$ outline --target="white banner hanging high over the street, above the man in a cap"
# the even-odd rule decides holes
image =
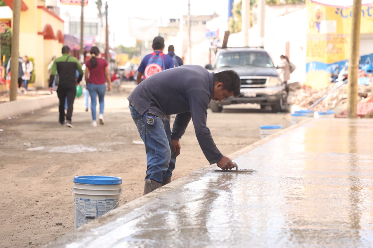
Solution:
[[[157,19],[130,17],[128,25],[129,35],[142,41],[152,41],[159,35]]]

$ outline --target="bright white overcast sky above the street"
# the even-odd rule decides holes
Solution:
[[[103,12],[105,3],[106,1],[103,0]],[[228,16],[228,0],[190,0],[190,4],[191,15],[212,15],[216,12],[225,18]],[[159,24],[162,21],[163,26],[166,26],[170,18],[178,19],[188,13],[188,0],[108,0],[108,6],[110,45],[122,44],[126,47],[135,45],[135,39],[128,33],[129,16],[157,19]],[[74,15],[80,15],[79,6],[69,6],[69,11],[70,9]],[[84,15],[97,16],[95,0],[88,0]]]

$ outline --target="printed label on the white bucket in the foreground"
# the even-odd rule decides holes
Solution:
[[[117,199],[92,200],[86,198],[75,198],[75,228],[79,228],[92,219],[87,219],[82,213],[88,217],[99,217],[109,212],[117,203]],[[81,213],[82,212],[82,213]]]

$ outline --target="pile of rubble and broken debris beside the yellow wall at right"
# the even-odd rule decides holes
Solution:
[[[347,83],[336,89],[338,86],[337,83],[334,83],[327,88],[315,90],[310,86],[300,85],[299,82],[290,83],[288,85],[288,104],[297,105],[301,109],[308,109],[313,103],[325,96],[311,110],[334,110],[336,115],[342,115],[347,109]],[[358,85],[358,104],[372,99],[372,93],[372,85]]]

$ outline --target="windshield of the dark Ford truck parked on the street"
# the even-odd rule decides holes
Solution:
[[[218,55],[216,67],[275,67],[267,53],[255,51],[227,52]]]

